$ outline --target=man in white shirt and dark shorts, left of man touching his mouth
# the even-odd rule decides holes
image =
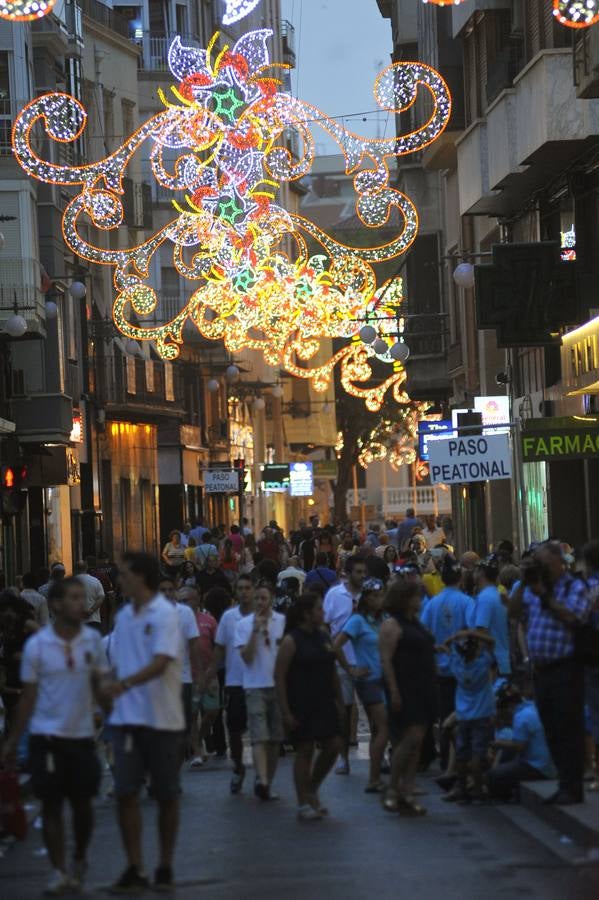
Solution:
[[[243,660],[235,644],[237,625],[254,609],[254,584],[249,575],[239,575],[235,585],[237,606],[226,609],[218,623],[214,644],[214,656],[206,673],[210,684],[218,670],[225,664],[225,708],[227,711],[227,731],[233,760],[231,793],[239,794],[245,778],[243,765],[243,733],[247,729],[247,709],[243,691]]]

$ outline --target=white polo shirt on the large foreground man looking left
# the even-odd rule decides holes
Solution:
[[[138,612],[133,603],[124,606],[116,617],[111,656],[120,680],[149,666],[155,656],[171,661],[159,678],[130,688],[116,700],[110,724],[183,731],[183,641],[176,607],[162,594]]]

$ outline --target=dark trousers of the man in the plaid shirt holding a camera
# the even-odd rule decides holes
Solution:
[[[560,790],[583,795],[584,668],[573,659],[536,666],[535,699]]]

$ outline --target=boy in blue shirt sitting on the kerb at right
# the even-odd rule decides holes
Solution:
[[[493,742],[501,754],[486,782],[492,797],[509,801],[522,781],[554,778],[556,770],[535,703],[515,685],[505,684],[497,692],[497,707],[512,718],[512,733],[509,739],[497,737]]]

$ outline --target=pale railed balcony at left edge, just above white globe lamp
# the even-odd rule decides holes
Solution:
[[[45,334],[45,307],[40,289],[40,264],[36,259],[0,259],[0,327],[8,318],[23,316],[27,332]]]

